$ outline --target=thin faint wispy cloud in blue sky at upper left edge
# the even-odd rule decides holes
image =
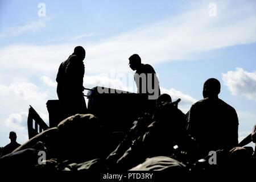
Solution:
[[[20,34],[23,34],[24,32],[36,32],[41,30],[42,28],[46,27],[46,20],[48,19],[39,19],[27,24],[24,24],[22,26],[16,26],[16,27],[9,27],[6,28],[5,31],[0,32],[0,39],[8,38],[12,36],[18,36]]]

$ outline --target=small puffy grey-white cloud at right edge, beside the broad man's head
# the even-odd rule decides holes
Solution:
[[[236,68],[236,71],[222,73],[222,80],[234,96],[244,96],[256,101],[256,72]]]

